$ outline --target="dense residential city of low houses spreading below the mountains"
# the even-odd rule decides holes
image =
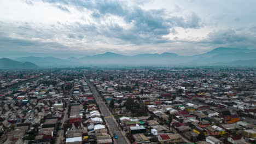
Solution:
[[[0,143],[255,143],[254,68],[0,71]]]

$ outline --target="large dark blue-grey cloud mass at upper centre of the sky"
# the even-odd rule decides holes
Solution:
[[[132,23],[133,26],[126,29],[113,22],[108,26],[98,26],[95,33],[132,44],[165,43],[168,39],[162,36],[173,33],[173,27],[200,28],[202,26],[200,17],[195,13],[187,17],[169,16],[165,9],[144,10],[136,5],[128,7],[125,3],[117,1],[44,0],[44,2],[61,3],[62,5],[75,7],[78,10],[89,9],[95,19],[100,19],[109,14],[122,17],[127,24]],[[82,24],[80,26],[82,31],[84,29],[88,31],[89,28],[86,27],[91,27]],[[89,31],[92,31],[92,29],[89,29]]]

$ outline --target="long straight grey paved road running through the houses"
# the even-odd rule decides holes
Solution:
[[[117,124],[115,124],[114,119],[112,118],[112,115],[107,110],[108,109],[107,106],[105,105],[104,101],[101,99],[100,94],[98,94],[98,92],[96,91],[96,88],[94,86],[92,86],[92,84],[86,79],[85,76],[84,76],[84,79],[88,83],[89,87],[91,88],[91,91],[94,94],[94,98],[97,101],[98,106],[100,106],[101,112],[102,112],[103,116],[105,117],[105,119],[110,127],[110,130],[112,131],[113,134],[115,133],[118,136],[117,143],[127,144],[127,142],[125,141],[124,136],[121,134]]]

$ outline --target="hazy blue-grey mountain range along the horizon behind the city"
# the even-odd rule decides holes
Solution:
[[[14,59],[19,64],[8,66],[7,59],[1,59],[2,69],[6,68],[61,68],[84,66],[201,66],[201,65],[232,65],[232,66],[256,66],[256,50],[235,49],[219,47],[210,52],[195,56],[178,56],[176,53],[145,53],[135,56],[119,55],[106,52],[100,55],[85,56],[82,58],[69,57],[60,59],[55,57],[19,57]],[[10,61],[8,63],[14,63]],[[28,65],[27,62],[30,62]],[[27,64],[27,65],[25,65]],[[26,67],[25,67],[26,66]]]

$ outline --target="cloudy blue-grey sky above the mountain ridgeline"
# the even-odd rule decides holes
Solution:
[[[0,57],[255,49],[256,1],[0,1]]]

